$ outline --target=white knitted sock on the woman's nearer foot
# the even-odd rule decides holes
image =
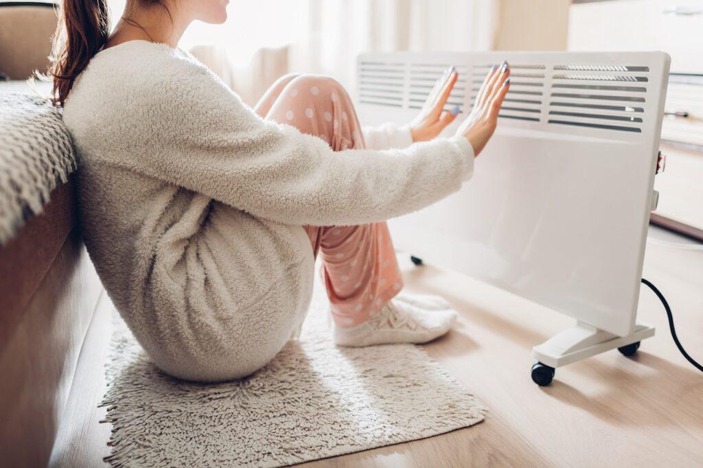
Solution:
[[[392,299],[364,323],[354,327],[335,323],[333,337],[340,346],[427,343],[449,332],[456,318],[451,309],[432,311]]]

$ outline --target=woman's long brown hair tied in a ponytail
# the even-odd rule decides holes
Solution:
[[[140,3],[162,6],[171,16],[165,0],[127,0],[127,11]],[[143,27],[129,18],[122,19],[143,30]],[[52,65],[49,70],[53,78],[55,105],[63,106],[76,78],[85,70],[91,58],[105,46],[109,35],[108,0],[63,0],[58,28],[53,37]]]

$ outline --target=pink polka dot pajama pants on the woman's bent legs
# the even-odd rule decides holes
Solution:
[[[351,98],[334,79],[289,74],[266,91],[254,109],[274,122],[318,136],[335,151],[364,148]],[[352,327],[374,316],[403,287],[385,222],[361,226],[304,226],[337,325]]]

